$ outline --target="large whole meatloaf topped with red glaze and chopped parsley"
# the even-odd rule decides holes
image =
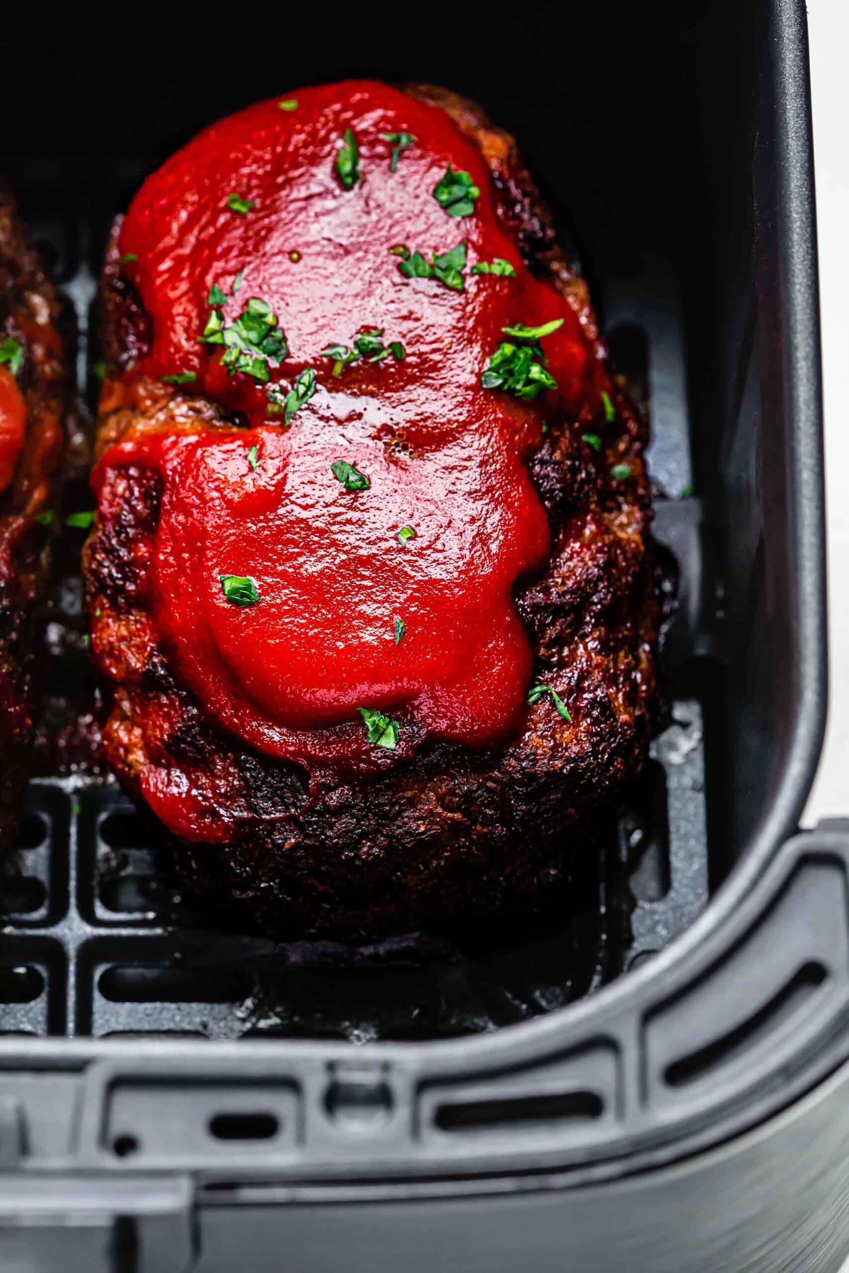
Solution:
[[[563,901],[654,694],[645,429],[510,136],[351,81],[116,227],[85,572],[103,747],[277,937]]]

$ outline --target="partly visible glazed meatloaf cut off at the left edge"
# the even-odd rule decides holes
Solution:
[[[0,847],[27,778],[33,636],[62,449],[62,348],[51,284],[0,190]]]

